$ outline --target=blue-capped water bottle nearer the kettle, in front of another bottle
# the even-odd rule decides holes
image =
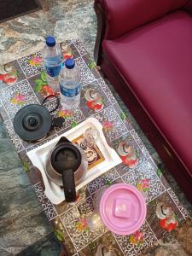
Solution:
[[[80,103],[81,77],[73,59],[67,59],[65,67],[61,69],[59,84],[62,108],[78,108]]]

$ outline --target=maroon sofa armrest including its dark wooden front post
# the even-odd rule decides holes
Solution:
[[[94,58],[97,65],[102,62],[102,41],[113,40],[130,32],[137,26],[157,20],[177,9],[183,9],[192,0],[95,0],[97,34]]]

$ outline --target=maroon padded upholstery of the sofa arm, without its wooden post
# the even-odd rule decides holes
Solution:
[[[182,8],[189,0],[95,0],[104,9],[105,38],[118,38],[137,26]]]

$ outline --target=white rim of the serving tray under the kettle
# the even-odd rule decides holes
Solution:
[[[94,178],[99,177],[105,172],[108,172],[109,169],[119,165],[122,162],[115,150],[108,146],[106,138],[104,137],[104,134],[102,132],[102,124],[96,118],[88,118],[71,130],[61,134],[61,136],[55,137],[48,143],[44,143],[44,145],[38,148],[34,148],[32,149],[32,151],[26,153],[32,161],[33,166],[38,167],[39,171],[42,174],[42,177],[44,179],[45,195],[49,198],[49,201],[51,201],[55,205],[60,204],[61,201],[64,201],[65,197],[63,189],[61,189],[60,186],[49,180],[46,173],[44,172],[49,150],[55,147],[56,143],[60,140],[61,137],[67,137],[69,141],[73,141],[75,138],[84,134],[84,131],[89,127],[93,127],[97,129],[97,131],[99,131],[100,137],[96,141],[96,145],[100,149],[105,160],[102,161],[100,164],[93,166],[92,168],[90,168],[90,170],[87,171],[82,182],[76,186],[76,190],[81,189],[84,185],[90,183]]]

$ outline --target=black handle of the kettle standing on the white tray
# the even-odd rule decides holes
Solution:
[[[76,200],[76,190],[74,182],[73,170],[64,170],[62,172],[62,182],[64,187],[64,195],[67,202]]]

